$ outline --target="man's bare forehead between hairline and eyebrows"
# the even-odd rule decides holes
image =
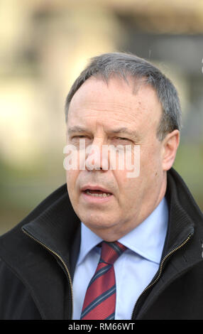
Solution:
[[[112,77],[108,82],[90,77],[72,97],[67,126],[98,122],[133,126],[157,126],[162,108],[155,90],[141,81]]]

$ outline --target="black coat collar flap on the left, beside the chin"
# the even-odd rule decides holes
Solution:
[[[59,193],[57,199],[52,201],[50,195],[48,208],[24,224],[22,230],[58,254],[67,264],[72,276],[79,252],[80,220],[70,203],[66,184],[56,191]]]

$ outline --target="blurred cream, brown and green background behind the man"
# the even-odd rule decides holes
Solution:
[[[89,58],[112,51],[175,83],[175,168],[203,210],[203,1],[1,0],[0,235],[65,183],[65,97]]]

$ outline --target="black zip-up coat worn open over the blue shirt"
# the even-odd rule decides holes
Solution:
[[[160,267],[132,319],[203,319],[203,215],[173,168],[166,199]],[[71,319],[79,245],[80,221],[62,185],[0,238],[0,319]]]

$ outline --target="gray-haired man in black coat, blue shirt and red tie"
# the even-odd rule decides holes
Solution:
[[[65,112],[77,168],[1,237],[1,318],[202,319],[203,217],[172,168],[174,85],[135,55],[99,55]],[[130,152],[139,173],[119,168],[119,150],[111,168],[104,146]]]

